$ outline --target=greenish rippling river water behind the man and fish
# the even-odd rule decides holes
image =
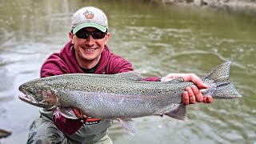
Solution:
[[[156,5],[140,1],[0,1],[0,128],[4,144],[25,143],[38,107],[18,99],[18,86],[39,77],[42,62],[68,42],[71,17],[96,6],[109,18],[110,50],[144,77],[194,73],[203,77],[231,61],[230,79],[242,94],[188,106],[188,121],[134,118],[135,136],[115,122],[110,137],[128,143],[256,143],[255,14]]]

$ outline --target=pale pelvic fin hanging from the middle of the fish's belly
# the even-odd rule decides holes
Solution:
[[[122,125],[122,127],[132,136],[135,134],[135,124],[132,119],[121,119],[118,118],[118,121]]]

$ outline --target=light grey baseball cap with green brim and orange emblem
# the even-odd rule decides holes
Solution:
[[[78,30],[85,27],[94,27],[102,32],[108,30],[106,14],[96,7],[83,7],[74,13],[71,22],[71,31],[76,34]]]

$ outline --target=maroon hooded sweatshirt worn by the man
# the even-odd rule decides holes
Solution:
[[[118,74],[132,71],[134,68],[126,59],[119,57],[110,52],[107,46],[102,52],[101,59],[94,74]],[[84,73],[74,55],[74,46],[68,42],[66,46],[59,52],[51,54],[46,62],[42,65],[41,77],[49,77],[60,74]],[[159,78],[144,78],[145,81],[158,81]],[[65,134],[74,134],[83,124],[80,120],[68,119],[58,114],[53,120]]]

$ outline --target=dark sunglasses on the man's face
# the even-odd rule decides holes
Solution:
[[[95,30],[95,31],[87,31],[87,30],[79,30],[76,34],[75,34],[78,38],[83,38],[83,39],[87,39],[90,37],[90,35],[94,38],[94,39],[102,39],[105,37],[106,32],[102,32],[101,30]]]

